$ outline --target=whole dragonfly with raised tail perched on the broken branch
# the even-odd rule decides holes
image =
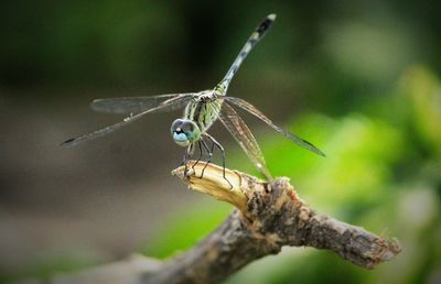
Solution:
[[[229,67],[225,77],[214,89],[207,89],[198,92],[184,92],[184,94],[170,94],[148,97],[122,97],[122,98],[105,98],[95,99],[92,101],[90,107],[100,112],[111,113],[125,113],[128,114],[122,121],[106,128],[96,130],[94,132],[83,134],[77,138],[69,139],[62,143],[63,146],[75,146],[86,141],[104,136],[109,134],[131,122],[135,122],[144,116],[153,112],[172,111],[184,108],[184,114],[182,118],[173,121],[171,125],[171,135],[174,142],[185,148],[183,157],[183,164],[185,165],[184,173],[187,173],[187,161],[194,154],[196,146],[200,151],[197,161],[193,164],[197,164],[203,152],[207,153],[207,161],[203,167],[201,178],[203,177],[206,166],[211,163],[214,149],[217,148],[222,153],[223,161],[223,175],[225,177],[225,150],[222,144],[208,134],[207,130],[213,123],[219,120],[233,138],[237,141],[247,156],[251,160],[252,164],[257,170],[268,179],[272,179],[272,176],[267,167],[263,154],[257,143],[254,134],[251,133],[248,125],[244,122],[240,116],[237,113],[235,108],[243,109],[252,116],[257,117],[266,124],[275,129],[280,134],[284,135],[289,140],[293,141],[298,145],[320,155],[325,156],[312,143],[306,140],[288,132],[287,130],[276,125],[267,116],[263,114],[259,109],[252,106],[250,102],[237,98],[226,96],[228,86],[239,69],[241,63],[256,46],[258,42],[268,32],[269,28],[276,20],[276,14],[271,13],[267,15],[260,24],[254,30],[239,54],[235,58],[234,63]],[[228,182],[228,179],[226,179]],[[228,182],[232,186],[232,184]]]

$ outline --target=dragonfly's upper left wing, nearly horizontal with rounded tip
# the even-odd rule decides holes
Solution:
[[[189,94],[171,94],[171,95],[159,95],[149,97],[126,97],[126,98],[107,98],[107,99],[95,99],[90,102],[90,107],[95,111],[110,112],[110,113],[139,113],[144,110],[155,108],[162,102],[185,96]],[[172,109],[161,109],[162,111],[170,111],[178,109],[180,105],[173,105]]]

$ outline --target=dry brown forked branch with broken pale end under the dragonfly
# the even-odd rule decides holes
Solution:
[[[267,183],[226,170],[230,188],[215,165],[200,178],[203,166],[196,164],[190,176],[184,176],[183,166],[172,174],[189,188],[237,208],[203,241],[165,262],[136,256],[50,283],[219,283],[254,260],[278,253],[283,245],[332,250],[356,265],[373,269],[401,250],[397,240],[316,214],[298,197],[288,178]]]

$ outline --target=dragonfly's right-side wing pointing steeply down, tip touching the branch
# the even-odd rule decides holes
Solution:
[[[237,112],[224,101],[222,105],[222,110],[219,113],[219,120],[234,136],[234,139],[239,143],[241,149],[252,161],[256,167],[268,178],[271,179],[271,174],[267,168],[267,163],[262,152],[260,151],[259,144],[251,131],[245,124],[244,120],[237,114]]]

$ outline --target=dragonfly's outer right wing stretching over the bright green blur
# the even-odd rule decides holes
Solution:
[[[289,140],[295,142],[298,145],[300,145],[300,146],[302,146],[304,149],[308,149],[308,150],[314,152],[318,155],[326,156],[322,151],[320,151],[312,143],[310,143],[304,139],[301,139],[301,138],[299,138],[299,136],[286,131],[284,129],[280,128],[278,125],[276,125],[269,118],[267,118],[260,110],[258,110],[255,106],[252,106],[248,101],[239,99],[239,98],[234,98],[234,97],[224,97],[224,100],[229,101],[229,102],[236,105],[237,107],[243,108],[246,111],[250,112],[251,114],[254,114],[255,117],[259,118],[260,120],[266,122],[268,125],[273,128],[276,131],[278,131],[282,135],[288,138]]]

